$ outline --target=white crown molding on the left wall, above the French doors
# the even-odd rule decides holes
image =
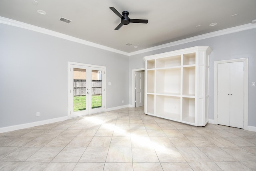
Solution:
[[[34,26],[34,25],[31,25],[31,24],[27,24],[27,23],[24,23],[24,22],[19,22],[19,21],[16,21],[16,20],[12,20],[12,19],[9,19],[9,18],[0,17],[0,23],[7,24],[7,25],[10,25],[10,26],[24,28],[24,29],[27,29],[27,30],[32,30],[32,31],[35,31],[35,32],[43,33],[43,34],[48,34],[50,36],[55,36],[57,38],[62,38],[62,39],[70,40],[72,42],[77,42],[77,43],[84,44],[84,45],[87,45],[87,46],[92,46],[92,47],[99,48],[99,49],[102,49],[102,50],[107,50],[107,51],[110,51],[110,52],[115,52],[115,53],[118,53],[118,54],[129,56],[129,53],[123,52],[121,50],[116,50],[116,49],[110,48],[108,46],[103,46],[103,45],[100,45],[100,44],[96,44],[96,43],[93,43],[93,42],[89,42],[89,41],[86,41],[86,40],[75,38],[73,36],[68,36],[66,34],[55,32],[55,31],[52,31],[52,30],[48,30],[48,29],[41,28],[41,27],[38,27],[38,26]]]

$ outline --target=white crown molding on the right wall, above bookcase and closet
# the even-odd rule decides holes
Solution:
[[[241,25],[241,26],[236,26],[236,27],[232,27],[232,28],[218,30],[218,31],[215,31],[215,32],[210,32],[210,33],[202,34],[202,35],[199,35],[199,36],[194,36],[194,37],[191,37],[191,38],[177,40],[175,42],[170,42],[170,43],[167,43],[167,44],[154,46],[152,48],[138,50],[138,51],[129,53],[129,56],[142,54],[142,53],[150,52],[150,51],[153,51],[153,50],[159,50],[159,49],[162,49],[162,48],[168,48],[168,47],[171,47],[171,46],[176,46],[176,45],[185,44],[185,43],[189,43],[189,42],[194,42],[194,41],[202,40],[202,39],[206,39],[206,38],[212,38],[212,37],[221,36],[221,35],[225,35],[225,34],[241,32],[241,31],[244,31],[244,30],[250,30],[250,29],[253,29],[253,28],[256,28],[256,24],[252,24],[252,23],[244,24],[244,25]]]

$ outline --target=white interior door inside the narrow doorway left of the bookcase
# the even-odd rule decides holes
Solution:
[[[135,72],[135,107],[144,106],[145,72]]]

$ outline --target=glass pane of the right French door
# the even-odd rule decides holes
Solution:
[[[92,70],[92,109],[101,107],[102,71]]]

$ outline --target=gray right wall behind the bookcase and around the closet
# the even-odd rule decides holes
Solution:
[[[132,70],[144,68],[144,56],[190,48],[193,46],[210,46],[210,81],[209,81],[209,119],[214,119],[214,61],[248,58],[248,125],[256,126],[256,29],[245,30],[214,38],[207,38],[186,44],[163,48],[129,58],[129,99],[132,104]]]

